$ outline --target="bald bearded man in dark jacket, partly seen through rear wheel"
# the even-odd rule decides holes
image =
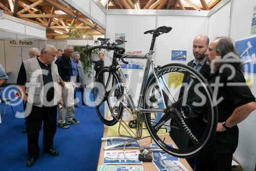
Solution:
[[[207,58],[205,57],[205,52],[207,51],[208,45],[209,38],[207,35],[200,34],[196,36],[193,40],[193,54],[195,59],[187,63],[188,66],[194,68],[200,74],[202,74],[205,79],[208,79],[210,72],[210,67],[207,65]],[[190,88],[189,91],[186,91],[184,90],[184,87],[182,87],[180,91],[180,97],[183,96],[184,93],[188,93],[186,104],[187,108],[189,106],[189,108],[191,109],[191,112],[188,113],[186,112],[187,109],[184,108],[184,112],[188,115],[188,119],[186,119],[186,124],[191,129],[191,132],[195,135],[195,137],[197,139],[200,139],[202,137],[202,134],[204,133],[203,127],[205,124],[202,118],[202,108],[193,106],[192,103],[194,101],[200,101],[201,98],[193,91],[193,81],[190,80],[190,78],[186,77],[186,75],[183,78],[183,83],[187,83],[188,88]],[[177,126],[177,123],[174,122],[172,126]],[[177,130],[171,127],[170,136],[175,141],[176,145],[181,149],[187,148],[191,145],[187,135],[184,134],[183,130]],[[194,168],[194,158],[187,159],[187,161],[190,166]]]

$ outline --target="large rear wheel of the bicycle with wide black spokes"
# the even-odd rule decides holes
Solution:
[[[180,158],[197,156],[211,143],[218,123],[211,88],[199,72],[186,65],[171,63],[160,70],[161,88],[151,75],[144,91],[143,108],[165,109],[165,112],[145,113],[147,129],[166,153]],[[177,146],[166,143],[168,138]]]

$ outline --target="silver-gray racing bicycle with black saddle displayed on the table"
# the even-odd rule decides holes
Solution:
[[[93,96],[97,114],[105,125],[112,126],[119,122],[119,128],[121,124],[122,126],[129,126],[122,120],[123,111],[126,109],[135,118],[133,121],[136,122],[135,132],[132,131],[130,133],[129,130],[125,129],[129,131],[130,137],[141,139],[143,122],[145,122],[146,129],[152,139],[163,151],[176,157],[189,158],[203,152],[214,138],[218,121],[218,109],[208,82],[195,69],[180,63],[169,63],[162,67],[155,64],[153,53],[156,37],[168,33],[170,30],[172,30],[172,27],[162,26],[155,30],[144,32],[144,34],[150,33],[153,35],[150,51],[146,55],[124,55],[125,49],[118,47],[123,41],[111,43],[109,38],[98,38],[101,41],[101,45],[88,49],[90,60],[95,62],[92,57],[94,49],[105,49],[108,52],[114,51],[114,54],[112,64],[108,67],[103,67],[95,76]],[[128,57],[147,59],[138,104],[136,104],[134,93],[118,64],[118,60],[127,64],[128,62],[124,59]],[[152,72],[149,74],[150,67]],[[189,84],[182,82],[180,89],[176,91],[170,82],[169,84],[166,82],[169,79],[169,75],[172,74],[178,74],[183,77],[181,80],[185,78],[190,80]],[[107,79],[100,80],[99,78],[102,76]],[[101,83],[102,86],[100,86]],[[192,117],[191,108],[194,107],[188,105],[189,98],[187,96],[191,94],[190,92],[194,92],[193,88],[194,90],[197,88],[199,94],[201,93],[205,97],[203,98],[202,96],[201,98],[201,102],[204,102],[201,107],[203,115],[199,117],[202,119],[200,122],[205,125],[201,136],[196,136],[196,133],[191,131],[193,126],[189,127],[187,125],[187,121]],[[179,97],[176,99],[178,94]],[[200,103],[200,100],[197,102]],[[111,116],[104,115],[104,112],[100,111],[103,104],[108,105]],[[166,144],[164,141],[169,135],[162,135],[160,130],[168,130],[170,128],[182,131],[187,136],[190,145],[184,148],[175,148]]]

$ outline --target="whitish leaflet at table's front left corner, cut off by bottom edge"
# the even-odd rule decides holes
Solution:
[[[143,171],[143,166],[100,165],[98,171]]]

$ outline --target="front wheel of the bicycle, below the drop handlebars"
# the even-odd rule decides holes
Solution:
[[[102,68],[95,76],[93,98],[96,112],[105,125],[116,124],[122,116],[124,106],[119,101],[122,101],[122,94],[123,88],[117,74],[110,67]],[[104,114],[105,105],[108,106],[107,114]]]

